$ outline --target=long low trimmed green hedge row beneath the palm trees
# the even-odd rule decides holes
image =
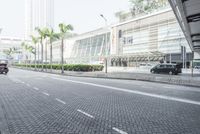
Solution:
[[[35,64],[15,64],[15,66],[18,67],[29,67],[29,68],[35,68]],[[37,64],[37,68],[42,68],[42,64]],[[48,65],[43,65],[44,69],[51,69],[51,66]],[[60,64],[53,64],[52,69],[55,70],[61,70],[61,65]],[[65,64],[64,65],[64,70],[65,71],[83,71],[83,72],[90,72],[90,71],[102,71],[103,70],[103,65],[84,65],[84,64]]]

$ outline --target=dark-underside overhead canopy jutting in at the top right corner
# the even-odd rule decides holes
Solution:
[[[169,0],[184,35],[194,52],[200,52],[200,0]]]

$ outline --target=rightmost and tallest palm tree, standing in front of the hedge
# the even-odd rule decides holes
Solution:
[[[61,73],[63,74],[64,73],[64,57],[63,57],[63,49],[64,49],[64,38],[66,36],[66,34],[68,33],[68,31],[72,31],[73,30],[73,27],[72,25],[66,25],[64,23],[60,23],[59,24],[59,28],[60,28],[60,38],[61,38]]]

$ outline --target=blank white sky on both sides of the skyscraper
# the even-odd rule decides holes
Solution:
[[[60,22],[72,24],[74,32],[87,32],[116,22],[114,13],[129,9],[129,0],[55,0],[55,27]],[[23,37],[25,31],[25,0],[0,0],[2,36]]]

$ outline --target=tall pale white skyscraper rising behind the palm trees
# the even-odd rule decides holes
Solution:
[[[54,27],[54,0],[25,0],[25,39],[35,27]]]

